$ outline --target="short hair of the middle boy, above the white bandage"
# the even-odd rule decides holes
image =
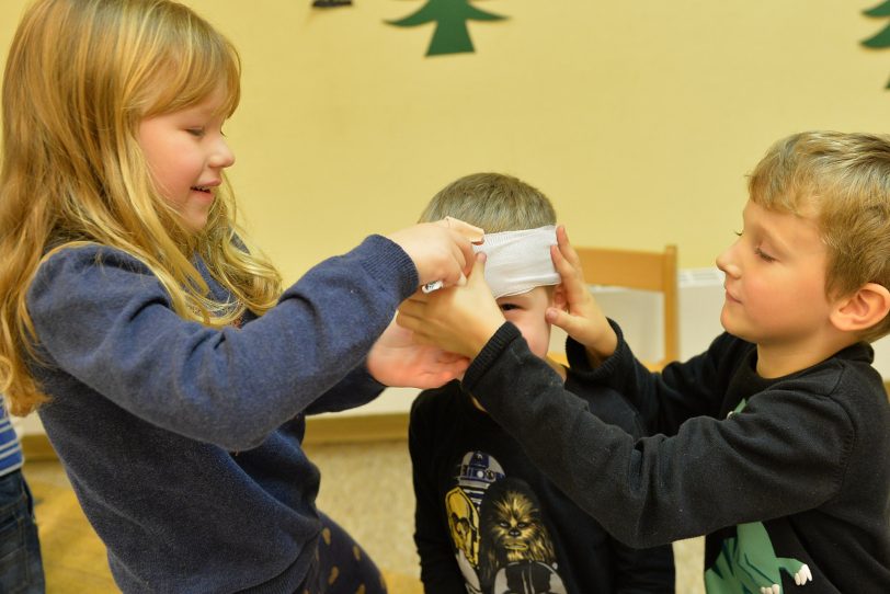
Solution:
[[[481,227],[487,233],[556,225],[556,210],[547,196],[503,173],[473,173],[455,180],[433,196],[420,221],[446,216]]]

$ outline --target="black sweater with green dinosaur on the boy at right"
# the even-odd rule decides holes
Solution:
[[[648,547],[707,535],[711,592],[796,592],[801,563],[812,572],[805,594],[890,592],[890,404],[870,346],[764,379],[756,346],[722,334],[652,374],[616,332],[615,354],[596,369],[571,340],[569,361],[627,396],[650,437],[587,413],[556,374],[540,373],[546,364],[512,324],[464,386],[615,537]]]

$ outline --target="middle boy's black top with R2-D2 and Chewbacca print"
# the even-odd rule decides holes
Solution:
[[[548,372],[549,368],[545,369],[545,373]],[[590,410],[603,419],[634,435],[642,434],[638,413],[614,390],[600,386],[591,389],[571,372],[563,389],[581,397]],[[425,390],[418,397],[411,408],[409,447],[417,495],[414,540],[426,594],[453,594],[464,592],[466,587],[456,561],[457,549],[449,529],[446,500],[461,483],[467,484],[465,477],[475,486],[488,482],[472,480],[473,476],[486,470],[479,464],[467,465],[465,460],[468,457],[488,462],[489,470],[497,468],[503,472],[503,478],[492,480],[488,490],[466,487],[468,492],[478,492],[491,505],[499,501],[494,493],[503,492],[494,484],[501,482],[510,484],[505,489],[515,489],[520,496],[514,495],[514,499],[536,503],[532,513],[521,516],[524,528],[518,526],[518,522],[510,525],[516,530],[513,536],[522,545],[507,542],[505,538],[501,548],[520,550],[528,542],[550,541],[554,548],[550,561],[555,566],[550,587],[554,592],[562,591],[554,582],[560,582],[569,594],[674,592],[674,563],[670,545],[640,550],[612,538],[595,519],[579,510],[532,465],[515,439],[499,427],[490,415],[472,404],[470,396],[460,389],[458,381]],[[486,523],[472,528],[482,533],[497,532],[494,525]],[[506,534],[504,532],[505,537]],[[490,540],[483,534],[481,541]],[[528,546],[528,549],[532,548]],[[468,564],[464,569],[481,578],[484,592],[491,591],[490,584],[486,583],[486,574],[490,573],[486,571],[486,559],[497,557],[487,553],[489,551],[483,546],[479,549],[480,562],[476,563],[477,567]],[[515,556],[527,558],[532,555]],[[500,566],[498,569],[501,569]]]

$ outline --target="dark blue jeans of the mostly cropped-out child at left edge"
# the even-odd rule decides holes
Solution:
[[[0,477],[0,592],[45,592],[34,502],[21,470]]]

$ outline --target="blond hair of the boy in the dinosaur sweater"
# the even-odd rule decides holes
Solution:
[[[749,180],[751,201],[813,216],[828,248],[825,295],[890,288],[890,136],[806,132],[774,144]],[[890,317],[862,334],[890,332]]]

